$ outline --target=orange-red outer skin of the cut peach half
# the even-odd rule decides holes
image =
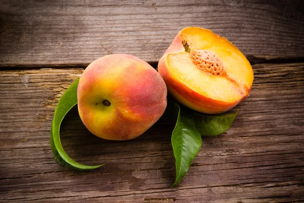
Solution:
[[[244,95],[240,100],[237,100],[235,102],[214,100],[193,91],[185,84],[172,77],[168,71],[167,56],[170,53],[184,51],[180,35],[181,31],[177,33],[172,44],[166,50],[158,64],[158,71],[165,80],[168,91],[174,96],[176,100],[188,108],[191,108],[198,112],[207,114],[219,114],[232,109],[249,95],[250,89],[247,90],[247,95]]]

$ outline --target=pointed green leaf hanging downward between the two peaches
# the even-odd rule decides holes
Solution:
[[[171,187],[176,186],[184,177],[202,146],[202,137],[195,126],[194,114],[180,109],[177,104],[175,108],[178,115],[171,143],[175,156],[176,179]]]

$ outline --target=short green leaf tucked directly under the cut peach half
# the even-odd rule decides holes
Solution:
[[[232,125],[239,110],[235,114],[209,116],[195,113],[195,124],[202,136],[217,136]]]

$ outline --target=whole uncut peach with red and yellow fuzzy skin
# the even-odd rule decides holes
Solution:
[[[167,87],[145,61],[113,54],[93,61],[77,90],[79,115],[96,136],[130,140],[140,136],[164,113]]]

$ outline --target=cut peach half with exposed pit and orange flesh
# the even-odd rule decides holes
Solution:
[[[178,32],[158,71],[181,104],[207,114],[235,107],[249,95],[253,82],[252,67],[241,51],[200,27]]]

